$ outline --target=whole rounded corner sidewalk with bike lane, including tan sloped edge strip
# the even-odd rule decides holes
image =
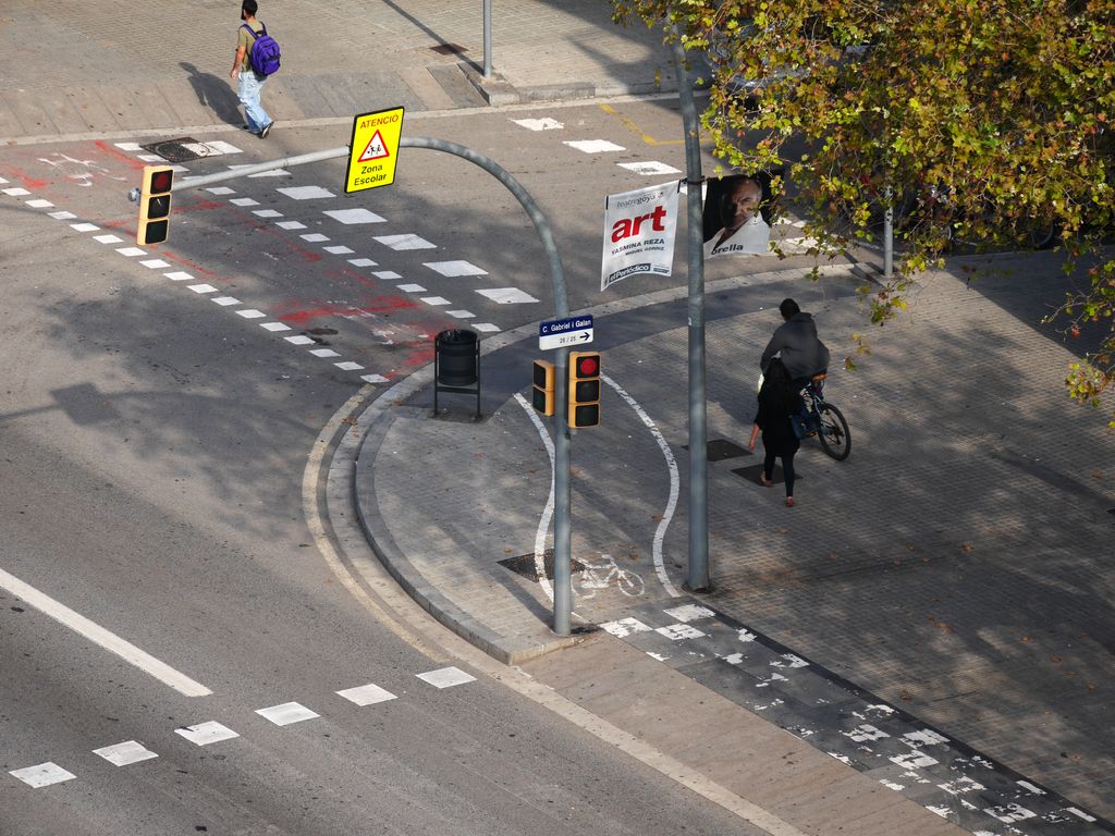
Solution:
[[[556,639],[536,580],[549,436],[516,397],[533,328],[484,341],[479,424],[467,396],[432,417],[429,369],[360,418],[369,538],[443,623],[802,832],[1113,833],[1115,455],[1101,416],[1058,397],[1070,356],[1028,310],[1056,268],[1030,264],[979,292],[932,276],[862,371],[832,376],[852,456],[807,443],[795,508],[740,449],[753,367],[791,294],[838,352],[859,280],[709,288],[711,594],[680,592],[678,293],[592,311],[611,380],[602,426],[573,440],[573,557],[575,623],[595,632]],[[738,757],[772,750],[797,768]]]

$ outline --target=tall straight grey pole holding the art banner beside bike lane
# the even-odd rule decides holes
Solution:
[[[677,35],[677,31],[675,31]],[[700,134],[686,52],[675,38],[673,62],[686,133],[686,204],[689,210],[689,576],[686,586],[707,592],[708,430],[705,390],[705,236],[702,234]]]

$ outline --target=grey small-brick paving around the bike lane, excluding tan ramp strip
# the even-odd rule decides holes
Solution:
[[[927,809],[977,833],[1109,833],[1108,823],[1086,817],[1115,813],[1115,587],[1106,571],[1115,557],[1115,447],[1103,415],[1059,390],[1073,359],[1068,347],[1032,325],[1031,308],[1048,295],[1057,268],[1040,256],[1025,264],[1029,274],[1009,285],[987,280],[970,288],[947,272],[927,278],[913,313],[873,337],[859,371],[833,370],[826,395],[852,425],[852,456],[836,463],[806,443],[797,457],[797,507],[783,505],[779,486],[766,489],[753,474],[734,473],[754,468],[757,456],[709,464],[715,589],[697,597],[850,683],[869,708],[889,706],[909,718],[890,737],[918,739],[920,728],[931,728],[953,741],[969,752],[946,761],[959,770],[956,780],[979,784],[963,766],[970,757],[992,765],[983,789],[963,800],[942,788],[954,789],[952,781],[917,767],[919,777],[903,784],[888,769],[860,765]],[[755,363],[784,295],[815,313],[837,357],[842,340],[862,327],[855,278],[836,272],[809,288],[801,275],[710,288],[710,440],[746,447]],[[573,556],[600,566],[598,580],[611,579],[574,580],[576,613],[594,624],[669,606],[660,571],[675,589],[685,581],[685,302],[663,300],[597,312],[605,372],[661,430],[679,464],[680,494],[659,568],[653,536],[669,500],[666,459],[642,421],[607,391],[603,426],[578,434],[572,460]],[[640,322],[670,320],[647,318],[643,301],[672,307],[679,327],[639,332]],[[525,391],[524,369],[536,354],[531,329],[501,339],[485,359],[498,392],[485,404],[491,417],[478,425],[435,420],[429,391],[411,381],[406,407],[379,411],[389,429],[382,444],[366,443],[358,487],[380,507],[372,541],[401,545],[410,570],[444,592],[458,618],[484,626],[491,652],[521,662],[552,647],[550,602],[540,584],[498,561],[533,552],[549,488],[539,475],[550,463],[530,416],[507,395]],[[400,398],[388,392],[384,400]],[[407,467],[417,460],[425,463],[419,472]],[[438,474],[436,489],[430,473]],[[617,574],[609,574],[609,557]],[[642,594],[623,594],[619,571],[638,575],[642,583],[628,590]],[[697,675],[685,659],[661,664]],[[743,700],[730,679],[700,681]],[[791,717],[776,722],[805,728]],[[847,731],[811,732],[811,742]]]

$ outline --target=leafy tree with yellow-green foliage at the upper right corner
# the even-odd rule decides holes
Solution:
[[[901,260],[873,322],[956,241],[1098,259],[1054,314],[1103,329],[1069,369],[1078,400],[1115,380],[1115,0],[613,0],[711,67],[702,126],[745,173],[785,168],[818,251],[895,216]],[[788,155],[789,147],[801,148]],[[1112,420],[1115,427],[1115,420]]]

